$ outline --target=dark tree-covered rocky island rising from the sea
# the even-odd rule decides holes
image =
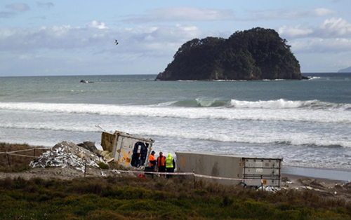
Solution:
[[[287,43],[274,29],[261,27],[235,32],[228,39],[192,39],[155,80],[303,79]]]

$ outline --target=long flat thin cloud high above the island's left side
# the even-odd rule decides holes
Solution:
[[[147,11],[146,15],[130,15],[127,22],[170,22],[170,21],[209,21],[234,20],[234,13],[230,10],[216,10],[208,8],[157,8]]]

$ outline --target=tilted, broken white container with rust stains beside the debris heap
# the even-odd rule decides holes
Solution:
[[[149,165],[149,156],[153,139],[137,137],[125,132],[116,131],[113,134],[102,132],[101,146],[104,151],[110,151],[115,163],[124,167],[143,169]]]

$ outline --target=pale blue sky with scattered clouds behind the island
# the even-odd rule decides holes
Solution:
[[[351,67],[351,0],[1,0],[0,76],[159,74],[183,43],[253,27],[302,73]]]

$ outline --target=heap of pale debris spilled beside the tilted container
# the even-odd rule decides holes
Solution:
[[[85,166],[99,167],[98,163],[106,163],[98,153],[93,142],[74,144],[61,142],[53,146],[51,151],[46,151],[29,165],[32,167],[74,167],[84,172]]]

